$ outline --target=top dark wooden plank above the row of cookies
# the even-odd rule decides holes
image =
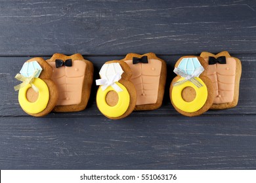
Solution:
[[[0,56],[256,54],[256,1],[2,1]]]

